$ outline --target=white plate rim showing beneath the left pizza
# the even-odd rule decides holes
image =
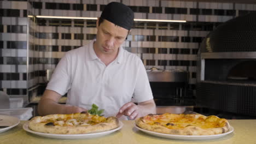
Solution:
[[[119,121],[119,126],[115,129],[108,130],[108,131],[102,131],[102,132],[99,132],[99,133],[77,134],[77,135],[40,133],[40,132],[33,131],[30,128],[28,128],[28,122],[26,122],[23,125],[23,129],[26,130],[29,133],[39,135],[39,136],[43,136],[43,137],[49,137],[49,138],[52,138],[52,139],[92,139],[94,137],[104,136],[104,135],[108,135],[110,133],[113,133],[114,131],[117,131],[117,130],[121,129],[123,127],[123,125],[124,124]]]

